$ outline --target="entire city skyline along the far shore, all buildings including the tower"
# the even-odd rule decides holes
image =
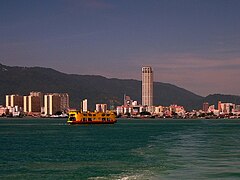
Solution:
[[[116,107],[118,116],[128,117],[203,117],[211,116],[240,116],[240,105],[233,103],[218,102],[218,107],[203,104],[200,111],[186,112],[183,106],[170,105],[153,106],[153,69],[150,66],[142,67],[142,103],[132,100],[129,96],[124,95],[124,103],[122,106]],[[6,95],[6,107],[0,107],[0,116],[2,114],[10,114],[18,116],[20,113],[32,116],[52,116],[58,112],[68,112],[69,96],[67,93],[42,93],[30,92],[27,96],[17,94]],[[88,111],[87,99],[81,103],[81,110]],[[107,104],[96,104],[97,112],[106,112]]]

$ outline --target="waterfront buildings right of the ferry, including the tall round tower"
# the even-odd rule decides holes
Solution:
[[[233,103],[218,102],[218,108],[208,103],[203,104],[203,109],[199,111],[186,112],[183,106],[170,105],[153,106],[153,69],[150,66],[142,67],[142,104],[131,100],[129,96],[124,95],[124,103],[116,109],[117,115],[127,115],[131,117],[157,116],[157,117],[202,117],[205,115],[214,115],[216,117],[225,117],[233,115],[240,116],[240,105]],[[146,113],[148,112],[148,113]]]

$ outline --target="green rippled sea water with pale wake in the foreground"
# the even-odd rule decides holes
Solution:
[[[0,119],[0,179],[240,179],[240,120]]]

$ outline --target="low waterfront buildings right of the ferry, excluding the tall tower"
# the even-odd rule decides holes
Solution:
[[[159,117],[159,118],[239,118],[240,105],[234,103],[218,102],[215,105],[203,103],[203,108],[188,112],[183,106],[176,104],[170,106],[143,106],[134,101],[130,96],[124,95],[124,103],[117,106],[116,113],[119,117]]]

